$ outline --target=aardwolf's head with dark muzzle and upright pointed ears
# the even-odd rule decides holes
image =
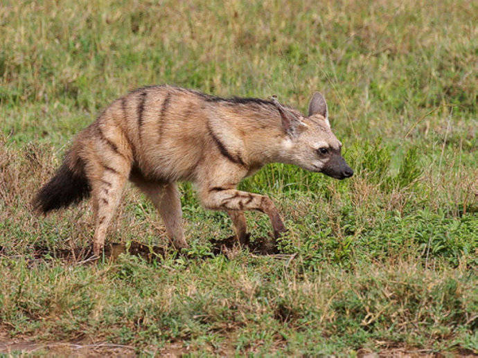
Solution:
[[[286,136],[281,157],[285,163],[299,165],[312,172],[323,172],[329,177],[345,179],[353,175],[341,154],[342,143],[330,129],[328,109],[324,96],[316,92],[309,104],[308,116],[283,107],[272,99],[281,113]]]

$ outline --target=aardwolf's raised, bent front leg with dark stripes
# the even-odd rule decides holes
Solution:
[[[260,211],[269,215],[274,238],[278,238],[285,226],[278,210],[269,197],[247,193],[236,189],[212,187],[200,191],[202,203],[206,208],[224,211]]]

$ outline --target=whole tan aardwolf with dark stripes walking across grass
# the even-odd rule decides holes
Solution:
[[[177,181],[191,181],[206,208],[229,214],[239,242],[247,239],[244,211],[269,215],[278,238],[285,226],[272,200],[236,185],[273,162],[351,177],[341,147],[320,93],[302,116],[275,97],[219,98],[169,85],[145,87],[114,101],[76,136],[33,205],[46,214],[91,195],[98,256],[130,179],[150,197],[172,244],[182,249],[188,244]]]

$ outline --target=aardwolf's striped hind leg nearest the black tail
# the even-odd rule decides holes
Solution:
[[[93,237],[93,253],[100,256],[105,246],[105,236],[112,217],[118,207],[127,181],[127,171],[101,165],[100,174],[91,179],[91,194],[95,214],[96,229]]]

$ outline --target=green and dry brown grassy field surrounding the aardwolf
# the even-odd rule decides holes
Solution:
[[[465,0],[3,1],[0,341],[145,355],[478,353],[477,24]],[[192,249],[179,257],[129,188],[107,240],[166,258],[82,263],[89,204],[36,217],[33,193],[109,102],[161,83],[276,94],[303,111],[320,90],[355,176],[276,164],[241,184],[283,213],[276,256],[213,255],[229,219],[184,184]],[[267,217],[247,219],[253,238],[267,235]]]

